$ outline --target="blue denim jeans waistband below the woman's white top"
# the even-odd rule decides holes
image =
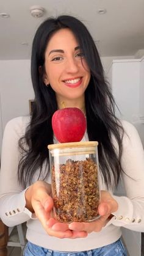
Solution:
[[[28,242],[24,249],[24,256],[126,256],[121,240],[97,249],[84,252],[57,252],[36,246]]]

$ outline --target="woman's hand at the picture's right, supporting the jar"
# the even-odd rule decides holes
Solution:
[[[118,203],[113,199],[107,191],[101,191],[101,202],[99,203],[98,212],[99,212],[99,219],[92,222],[72,222],[68,225],[70,230],[73,232],[80,232],[85,231],[87,233],[91,232],[99,232],[103,227],[107,224],[109,219],[112,217],[111,213],[118,210]],[[54,224],[52,230],[60,230],[60,225]]]

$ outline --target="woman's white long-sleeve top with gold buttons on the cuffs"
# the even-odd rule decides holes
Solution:
[[[122,121],[124,131],[126,131],[123,136],[121,156],[126,196],[113,196],[118,202],[118,210],[113,213],[113,218],[101,232],[92,232],[87,238],[71,240],[59,239],[46,234],[40,221],[33,218],[32,213],[25,207],[26,188],[18,183],[20,161],[18,140],[24,135],[29,122],[29,117],[17,117],[5,126],[0,171],[0,218],[7,226],[27,222],[27,240],[55,251],[87,251],[106,246],[120,238],[120,227],[144,232],[144,152],[139,134],[131,123]],[[117,145],[115,146],[117,148]],[[37,177],[38,174],[35,174],[33,182],[37,180]],[[50,183],[49,180],[48,182]],[[101,177],[100,188],[107,190]],[[113,191],[110,192],[113,195]]]

